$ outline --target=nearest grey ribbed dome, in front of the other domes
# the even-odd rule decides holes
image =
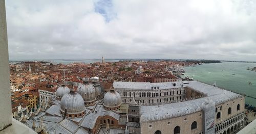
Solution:
[[[80,116],[81,114],[83,115],[85,110],[86,108],[84,107],[83,98],[80,94],[71,91],[61,98],[60,112],[62,114],[67,112],[67,115],[78,115],[79,117],[79,114]]]

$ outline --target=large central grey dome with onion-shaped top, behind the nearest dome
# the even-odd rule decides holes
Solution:
[[[82,79],[83,84],[77,88],[77,92],[82,96],[85,105],[93,105],[95,103],[95,88],[90,84],[89,78]]]

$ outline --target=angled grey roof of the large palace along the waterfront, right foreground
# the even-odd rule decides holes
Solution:
[[[173,118],[201,111],[201,106],[207,99],[212,100],[213,103],[218,105],[228,100],[242,97],[242,95],[197,81],[189,82],[189,84],[186,86],[196,91],[202,92],[207,96],[178,103],[141,106],[141,122]]]

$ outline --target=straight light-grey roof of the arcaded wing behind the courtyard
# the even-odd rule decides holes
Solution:
[[[176,86],[174,86],[176,84]],[[172,88],[181,88],[183,83],[179,82],[166,82],[166,83],[144,83],[144,82],[114,82],[113,87],[118,89],[127,89],[127,90],[161,90],[161,89],[172,89]],[[156,87],[156,89],[154,88]],[[159,87],[159,89],[157,88]]]

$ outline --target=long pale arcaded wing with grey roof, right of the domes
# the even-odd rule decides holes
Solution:
[[[113,87],[120,94],[123,103],[130,103],[134,97],[138,104],[152,105],[184,101],[187,98],[187,88],[184,85],[182,81],[166,83],[113,83]],[[200,95],[203,96],[203,94]]]

